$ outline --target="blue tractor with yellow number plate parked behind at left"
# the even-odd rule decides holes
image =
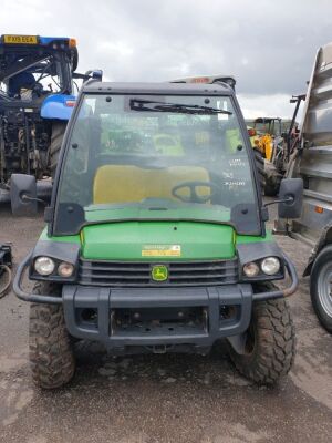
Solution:
[[[13,173],[54,174],[75,79],[86,79],[77,62],[75,39],[0,37],[0,188]]]

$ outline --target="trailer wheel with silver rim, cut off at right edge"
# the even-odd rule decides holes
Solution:
[[[321,324],[332,333],[332,246],[323,248],[314,260],[310,296]]]

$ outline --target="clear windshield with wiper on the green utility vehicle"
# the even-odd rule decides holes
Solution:
[[[248,153],[229,96],[85,94],[59,186],[58,205],[75,205],[86,222],[236,224],[255,213],[259,230]]]

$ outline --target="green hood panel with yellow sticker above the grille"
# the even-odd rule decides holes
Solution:
[[[82,229],[81,241],[82,256],[87,259],[169,261],[235,256],[234,228],[207,223],[123,222],[90,225]]]

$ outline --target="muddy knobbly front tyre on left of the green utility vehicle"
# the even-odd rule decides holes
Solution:
[[[59,287],[49,282],[34,286],[37,293],[55,295],[59,290]],[[31,305],[29,351],[32,378],[38,387],[55,389],[73,378],[75,359],[62,305]]]

